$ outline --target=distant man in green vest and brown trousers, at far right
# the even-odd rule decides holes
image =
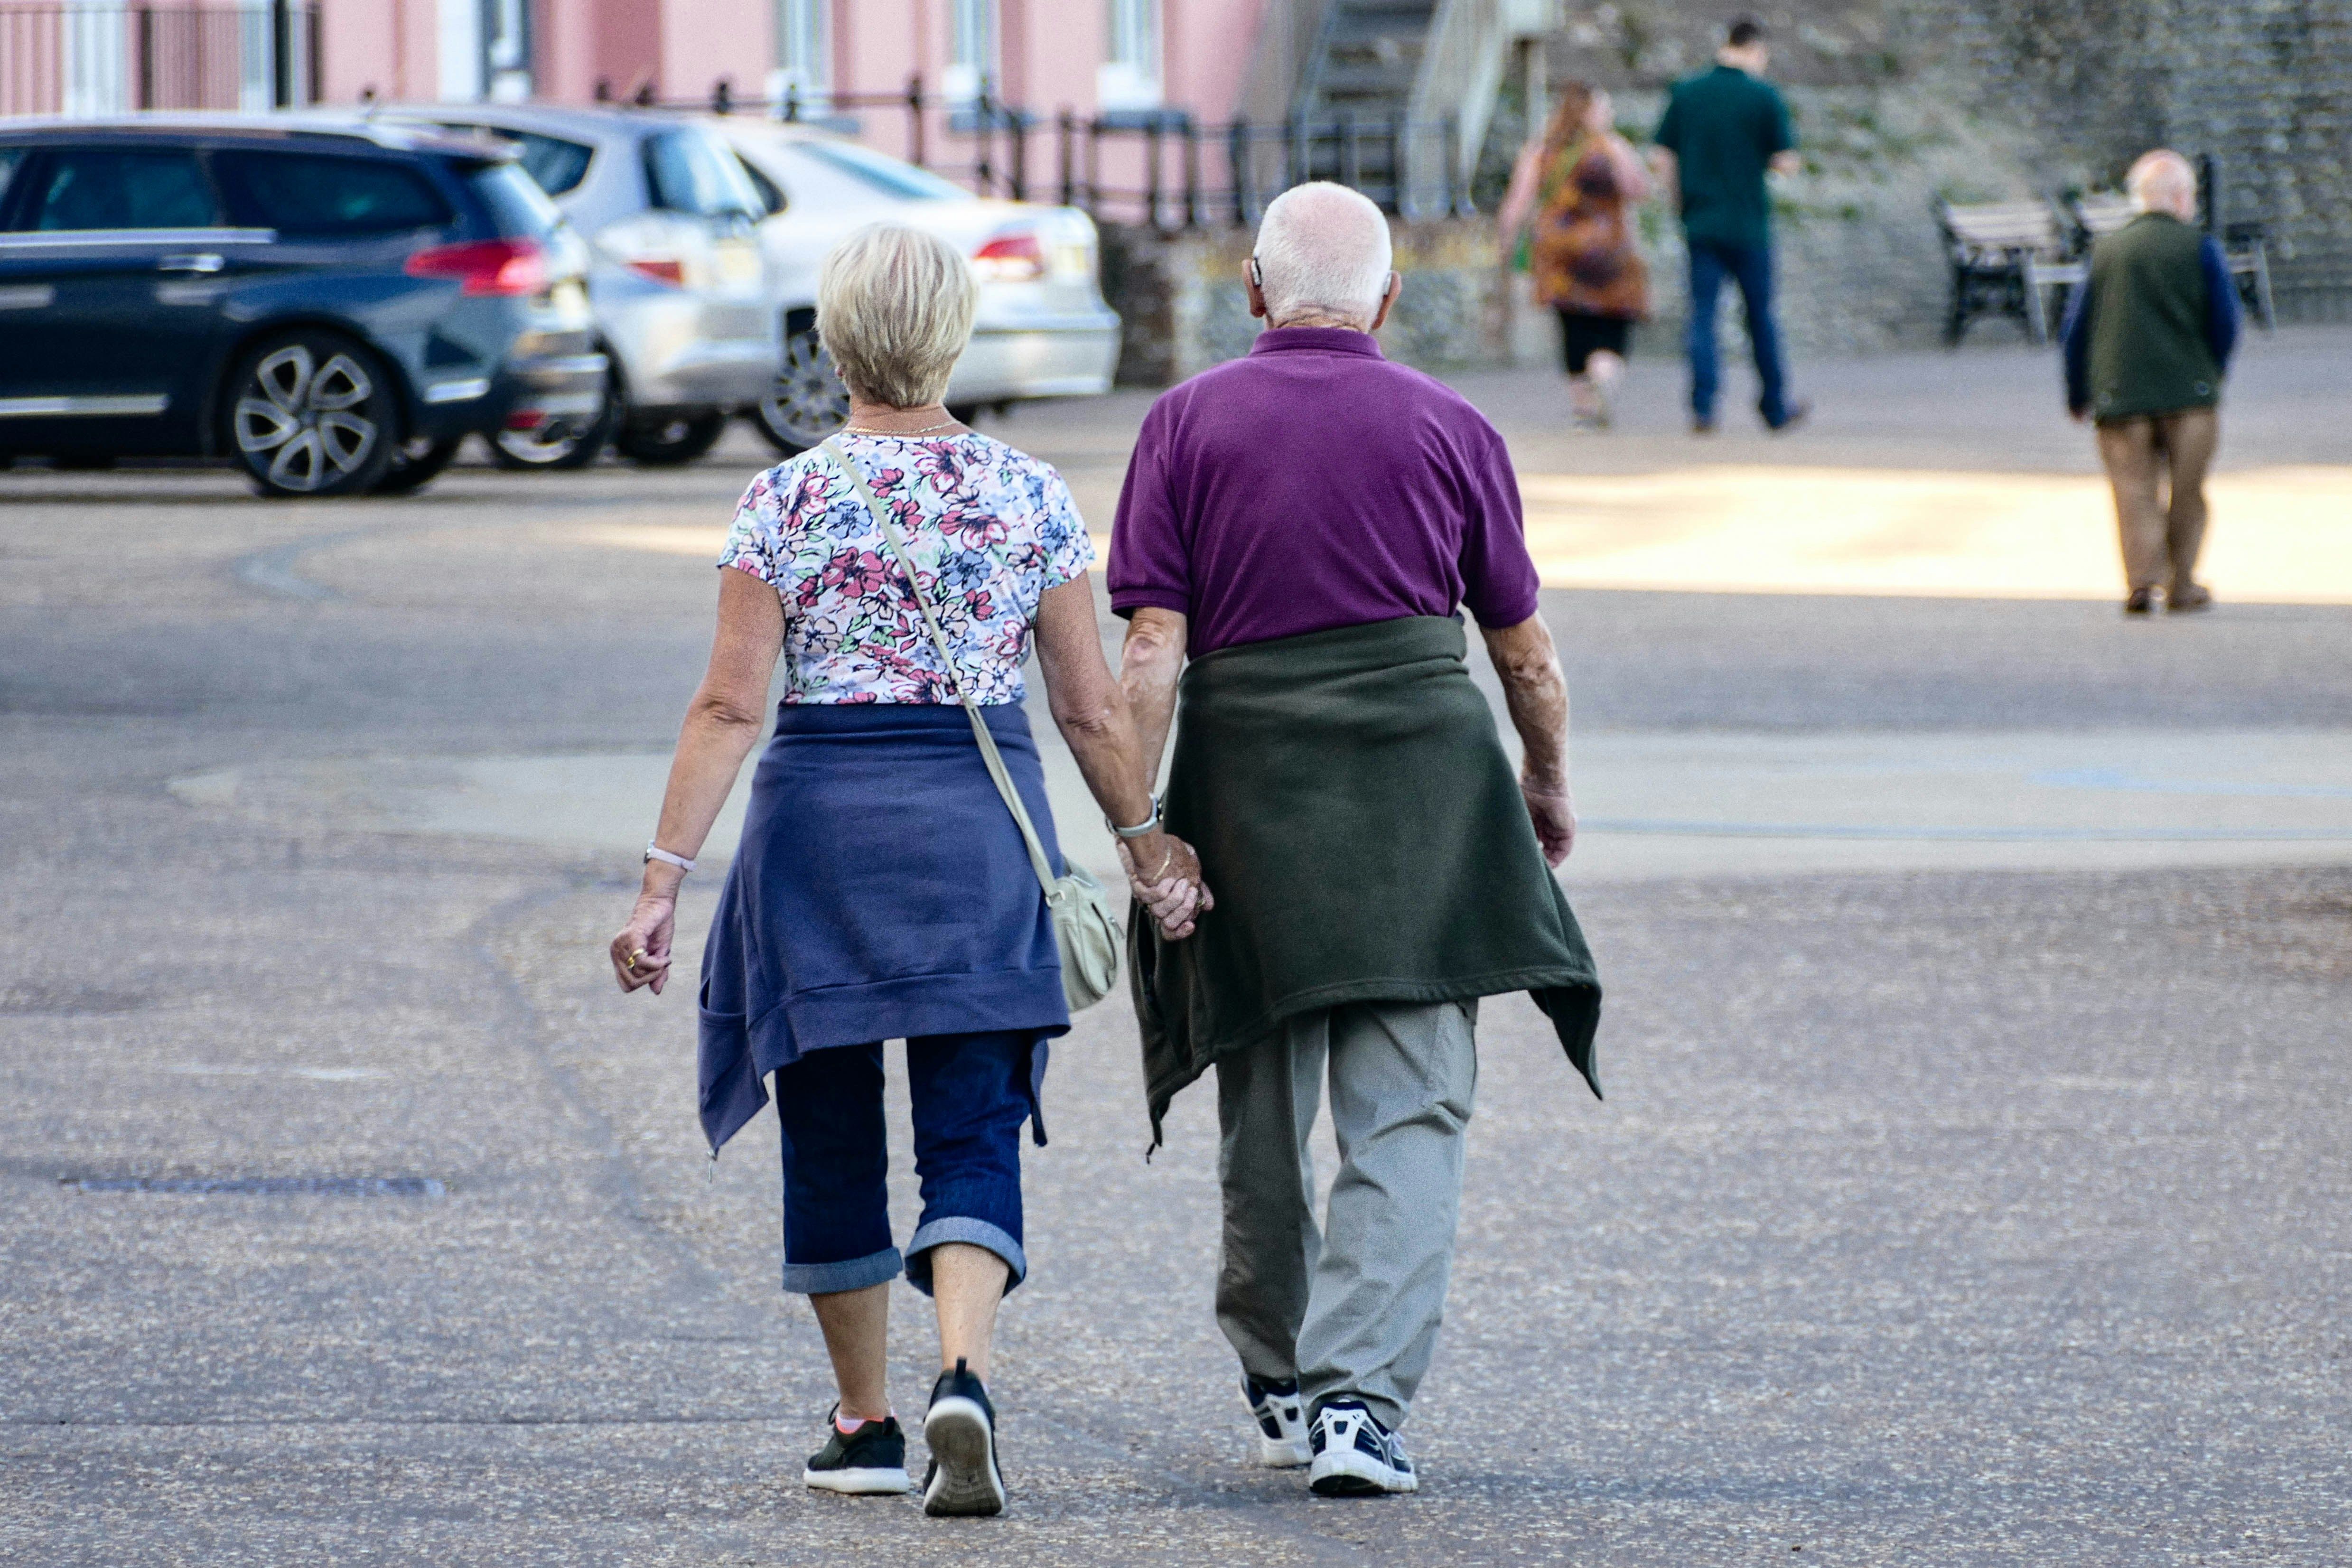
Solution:
[[[2237,287],[2220,244],[2194,228],[2187,158],[2147,153],[2124,188],[2140,216],[2091,247],[2091,277],[2067,306],[2065,407],[2098,421],[2124,541],[2124,614],[2150,614],[2159,588],[2164,609],[2183,614],[2213,604],[2197,581],[2197,550],[2204,475],[2220,444],[2220,378],[2237,348]]]

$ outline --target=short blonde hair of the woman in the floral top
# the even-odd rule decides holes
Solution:
[[[981,284],[962,252],[906,223],[868,223],[816,273],[816,336],[849,390],[920,409],[948,390]]]

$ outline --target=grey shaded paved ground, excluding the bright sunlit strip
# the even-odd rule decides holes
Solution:
[[[2340,343],[2258,346],[2239,461],[2345,461]],[[2079,435],[2018,411],[2046,376],[1818,367],[1818,433],[1705,454],[1665,371],[1611,442],[1550,433],[1541,378],[1465,386],[1534,475],[2074,475]],[[1004,433],[1108,517],[1138,407]],[[1623,799],[1588,846],[1618,870],[1573,879],[1611,1098],[1524,1004],[1486,1009],[1423,1495],[1317,1505],[1237,1465],[1209,1107],[1178,1100],[1143,1164],[1117,1004],[1056,1051],[1030,1161],[1014,1514],[802,1490],[826,1375],[774,1291],[771,1140],[713,1168],[689,992],[597,973],[635,879],[597,844],[642,813],[581,842],[482,820],[522,764],[583,818],[630,811],[597,780],[675,729],[710,602],[644,531],[710,527],[757,449],[722,458],[369,505],[0,475],[0,1559],[2352,1556],[2352,872],[2326,837],[2249,837],[2352,825],[2331,604],[1550,592],[1588,790]],[[1896,839],[1625,832],[1802,806],[2032,832],[1943,870]],[[2150,827],[2183,820],[2237,837]],[[2060,851],[2070,823],[2131,832]],[[915,1408],[927,1328],[896,1305]]]

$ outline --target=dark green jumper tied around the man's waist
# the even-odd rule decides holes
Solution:
[[[1136,905],[1129,983],[1152,1143],[1176,1091],[1287,1018],[1524,990],[1599,1095],[1602,987],[1451,616],[1247,642],[1178,686],[1167,827],[1216,910]]]

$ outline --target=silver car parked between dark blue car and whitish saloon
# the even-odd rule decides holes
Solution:
[[[621,108],[433,103],[379,118],[475,129],[522,167],[588,240],[588,301],[614,378],[593,421],[508,430],[501,463],[576,468],[607,437],[637,463],[689,463],[729,414],[774,393],[776,284],[757,223],[767,205],[708,127]]]

